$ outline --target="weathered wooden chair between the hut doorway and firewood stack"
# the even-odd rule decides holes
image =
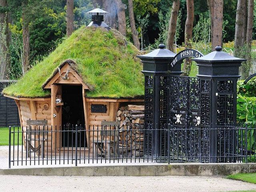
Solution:
[[[120,122],[116,121],[101,122],[100,138],[93,140],[94,158],[98,158],[98,156],[103,158],[118,157],[119,124]]]

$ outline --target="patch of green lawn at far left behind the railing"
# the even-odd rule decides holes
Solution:
[[[13,131],[13,128],[12,128],[12,131]],[[17,127],[16,127],[16,132],[18,131],[17,130]],[[22,144],[22,133],[21,133],[21,128],[19,128],[19,144]],[[18,144],[18,133],[15,133],[14,134],[14,144],[17,145]],[[8,145],[9,144],[9,128],[8,127],[4,127],[4,128],[0,128],[0,145]],[[13,134],[12,134],[12,137],[11,137],[11,144],[13,144]]]

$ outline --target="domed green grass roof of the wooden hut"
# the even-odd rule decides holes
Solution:
[[[65,60],[75,62],[76,71],[90,88],[90,98],[134,98],[144,95],[140,51],[116,30],[85,26],[64,40],[54,52],[32,67],[17,83],[3,90],[16,97],[50,97],[42,85]]]

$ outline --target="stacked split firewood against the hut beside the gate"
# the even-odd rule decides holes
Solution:
[[[120,122],[119,148],[124,157],[143,156],[144,106],[122,106],[116,120]]]

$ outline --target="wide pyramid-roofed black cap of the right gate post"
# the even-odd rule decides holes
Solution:
[[[236,76],[239,77],[239,66],[246,59],[236,58],[230,54],[222,51],[221,46],[216,46],[215,51],[202,56],[194,58],[198,69],[197,76]]]

